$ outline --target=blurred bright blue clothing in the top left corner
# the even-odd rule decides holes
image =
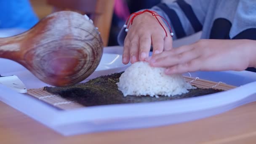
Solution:
[[[0,0],[0,28],[30,29],[39,21],[29,0]]]

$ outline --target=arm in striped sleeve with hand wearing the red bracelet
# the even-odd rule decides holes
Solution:
[[[153,7],[171,25],[173,39],[192,35],[202,30],[209,0],[177,0],[174,3],[160,3]],[[160,23],[168,30],[166,23]],[[123,63],[143,61],[148,57],[151,45],[153,54],[172,48],[171,36],[165,36],[163,28],[151,13],[142,13],[133,20],[128,32],[123,28],[118,35],[118,43],[124,46]]]

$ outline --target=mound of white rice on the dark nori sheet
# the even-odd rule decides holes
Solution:
[[[182,75],[165,75],[165,68],[150,67],[139,61],[121,75],[118,89],[124,96],[174,96],[195,88]]]

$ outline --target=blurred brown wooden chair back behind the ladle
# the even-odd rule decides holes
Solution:
[[[69,10],[87,14],[107,46],[115,0],[47,0],[47,3],[53,6],[53,12]]]

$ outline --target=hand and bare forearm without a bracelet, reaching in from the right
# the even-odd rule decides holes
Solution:
[[[167,67],[166,74],[199,70],[240,71],[256,66],[255,43],[255,40],[199,40],[146,60],[153,67]]]

